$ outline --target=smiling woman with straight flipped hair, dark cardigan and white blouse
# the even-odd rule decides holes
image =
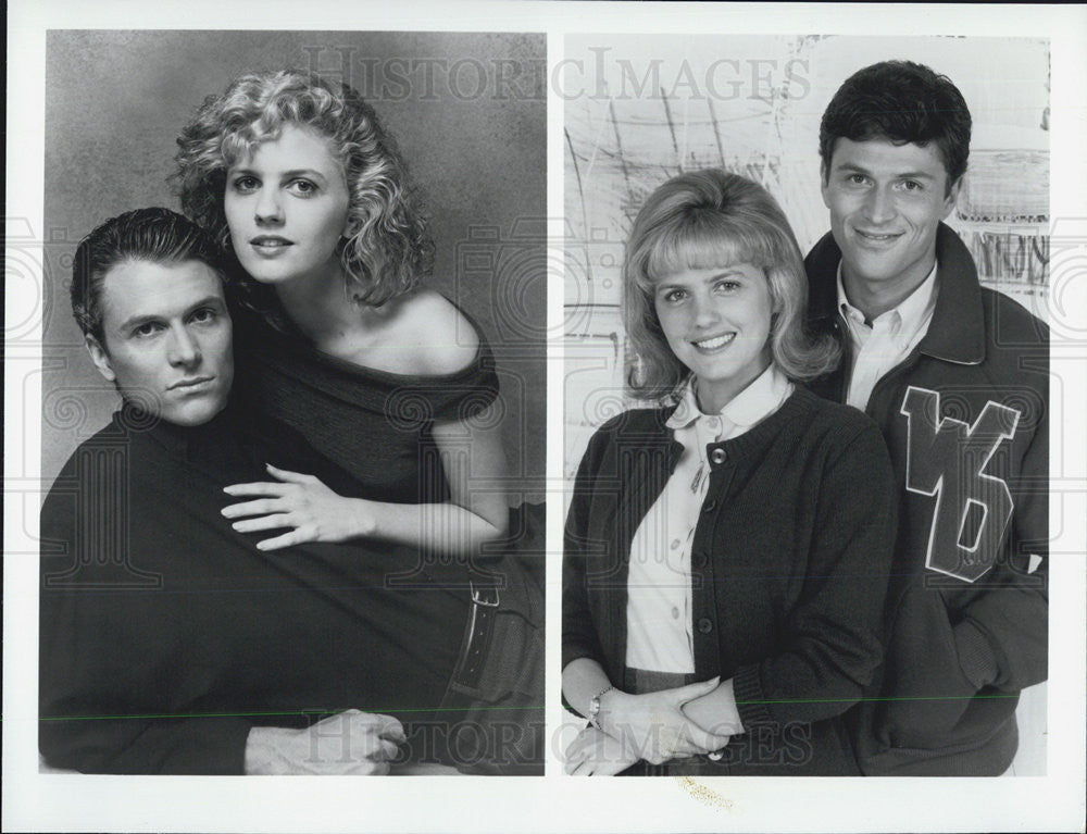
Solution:
[[[855,774],[840,717],[880,657],[890,464],[871,420],[799,385],[838,352],[803,329],[788,222],[744,177],[680,175],[623,282],[630,390],[665,402],[578,469],[562,688],[589,726],[566,771]]]

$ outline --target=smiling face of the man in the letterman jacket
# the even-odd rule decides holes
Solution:
[[[959,194],[959,183],[948,190],[936,145],[838,139],[823,173],[847,287],[860,282],[883,285],[888,295],[911,292],[933,269],[936,229]]]

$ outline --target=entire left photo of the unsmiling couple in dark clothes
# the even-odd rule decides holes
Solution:
[[[39,769],[542,774],[546,36],[46,46]]]

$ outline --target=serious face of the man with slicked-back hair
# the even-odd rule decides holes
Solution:
[[[234,382],[223,283],[199,261],[127,261],[102,285],[105,344],[91,359],[122,397],[168,423],[201,425],[226,406]]]

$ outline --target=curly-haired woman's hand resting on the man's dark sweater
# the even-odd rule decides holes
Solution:
[[[345,498],[314,475],[265,465],[275,482],[232,484],[223,489],[236,498],[255,497],[222,510],[227,519],[241,519],[232,525],[239,533],[288,530],[257,543],[259,549],[277,550],[305,542],[347,542],[373,533],[375,519],[366,512],[367,501]]]

